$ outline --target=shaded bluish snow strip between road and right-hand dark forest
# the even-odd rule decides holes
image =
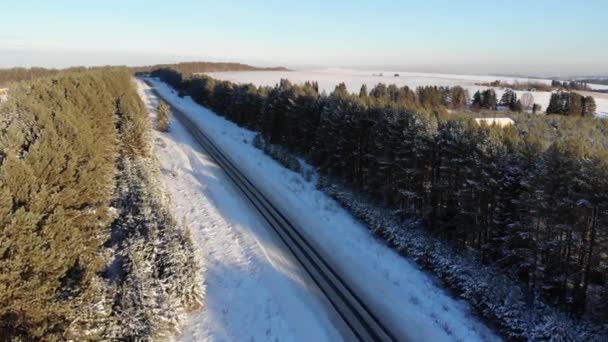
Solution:
[[[335,265],[383,321],[410,340],[498,340],[468,306],[450,297],[432,277],[401,257],[358,223],[314,182],[291,172],[252,145],[254,132],[240,128],[194,103],[168,85],[152,80],[172,105],[188,114],[266,194],[273,196],[307,237]]]

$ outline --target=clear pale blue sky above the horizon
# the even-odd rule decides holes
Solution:
[[[608,1],[0,0],[0,67],[229,60],[608,74]]]

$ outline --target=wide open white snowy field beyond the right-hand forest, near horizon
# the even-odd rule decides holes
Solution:
[[[382,76],[377,76],[382,73]],[[395,77],[399,74],[399,77]],[[358,93],[363,84],[371,89],[378,83],[391,84],[398,86],[409,86],[415,88],[418,86],[456,86],[460,85],[467,89],[471,96],[477,90],[484,90],[488,87],[477,86],[475,83],[492,82],[496,80],[513,83],[519,82],[543,82],[550,84],[551,80],[528,79],[503,76],[478,76],[478,75],[456,75],[456,74],[432,74],[418,72],[400,72],[400,71],[359,71],[348,69],[327,69],[320,71],[246,71],[246,72],[215,72],[209,73],[211,77],[228,80],[237,83],[253,83],[257,86],[269,85],[274,86],[279,83],[281,78],[289,79],[292,83],[304,83],[305,81],[319,82],[319,90],[324,90],[327,93],[334,90],[337,84],[344,82],[350,92]],[[592,88],[608,89],[608,86],[592,85]],[[495,88],[498,98],[504,92],[500,88]],[[516,92],[519,97],[525,91]],[[598,116],[608,116],[608,98],[601,96],[604,94],[593,94],[597,103]],[[533,92],[534,101],[542,106],[545,110],[549,105],[551,98],[550,92]]]

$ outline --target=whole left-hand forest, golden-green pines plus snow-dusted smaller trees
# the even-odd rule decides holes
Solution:
[[[200,289],[147,110],[127,69],[51,73],[0,105],[0,340],[161,336]]]

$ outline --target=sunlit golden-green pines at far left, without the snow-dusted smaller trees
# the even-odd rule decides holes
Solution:
[[[79,300],[96,299],[125,86],[109,74],[49,78],[20,84],[0,108],[2,339],[57,337]]]

